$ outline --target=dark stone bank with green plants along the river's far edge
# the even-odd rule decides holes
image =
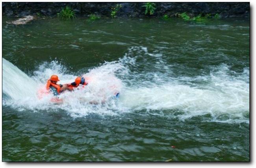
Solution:
[[[221,17],[249,17],[249,2],[154,2],[156,10],[147,17],[175,16],[187,12],[191,15],[220,14]],[[41,14],[56,16],[65,6],[69,6],[78,16],[97,14],[110,17],[111,7],[121,4],[117,17],[145,17],[145,2],[2,2],[3,16],[28,16]]]

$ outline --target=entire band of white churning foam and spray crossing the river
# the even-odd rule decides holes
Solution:
[[[154,57],[156,61],[152,66],[159,70],[136,71],[141,56],[131,56],[134,51]],[[221,64],[212,67],[208,75],[172,77],[172,66],[164,62],[161,54],[148,53],[146,47],[131,47],[123,58],[105,62],[82,74],[70,74],[61,63],[52,61],[41,64],[33,76],[28,76],[3,58],[3,105],[34,112],[61,109],[72,117],[91,113],[118,115],[140,110],[156,113],[176,110],[182,112],[180,119],[211,114],[215,118],[224,115],[228,119],[249,122],[246,117],[249,114],[249,68],[237,73]],[[89,85],[61,94],[61,104],[49,101],[52,96],[38,99],[37,91],[45,87],[52,74],[59,76],[61,84],[84,76]],[[116,91],[120,93],[119,98],[113,96]]]

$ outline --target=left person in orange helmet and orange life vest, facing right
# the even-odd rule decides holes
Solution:
[[[65,90],[71,91],[72,89],[69,88],[67,85],[57,84],[59,78],[57,75],[52,75],[50,79],[47,80],[46,89],[50,90],[54,96],[58,96],[61,92]]]

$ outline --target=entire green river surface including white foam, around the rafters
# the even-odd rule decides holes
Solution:
[[[13,19],[3,161],[249,161],[249,19]],[[36,96],[52,74],[95,80],[56,105]]]

